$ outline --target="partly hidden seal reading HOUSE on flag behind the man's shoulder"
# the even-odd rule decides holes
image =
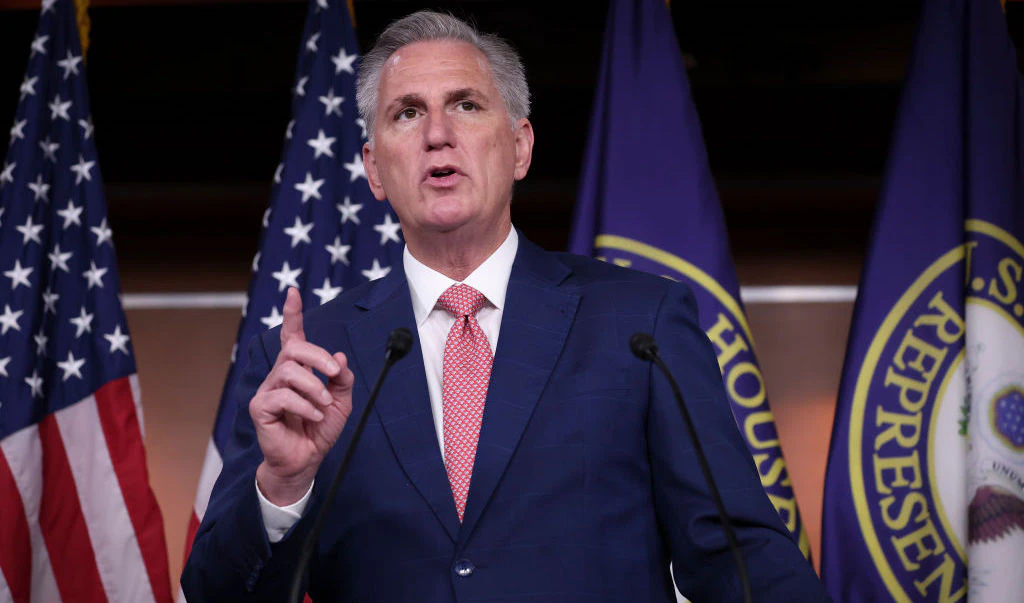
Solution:
[[[732,414],[754,457],[761,484],[790,533],[799,542],[804,557],[810,557],[807,529],[800,520],[764,377],[754,354],[754,338],[739,302],[708,272],[654,246],[600,234],[594,249],[599,259],[683,281],[693,290],[700,310],[700,326],[715,346]]]

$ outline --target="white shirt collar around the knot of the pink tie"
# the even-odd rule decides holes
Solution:
[[[516,234],[515,228],[510,228],[505,242],[469,276],[466,276],[463,283],[482,293],[493,306],[502,309],[505,305],[509,277],[512,275],[512,262],[518,249],[519,235]],[[401,261],[406,269],[406,278],[409,281],[409,291],[413,297],[416,325],[422,327],[431,310],[437,305],[441,294],[458,282],[414,258],[413,254],[409,253],[408,246],[402,253]]]

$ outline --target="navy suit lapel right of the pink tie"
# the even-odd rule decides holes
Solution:
[[[554,256],[520,234],[459,548],[490,501],[561,355],[580,302],[574,291],[558,288],[569,273]]]

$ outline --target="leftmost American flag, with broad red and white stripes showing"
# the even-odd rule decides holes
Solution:
[[[0,165],[0,601],[170,601],[72,0]]]

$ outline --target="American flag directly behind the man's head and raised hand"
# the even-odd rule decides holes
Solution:
[[[220,450],[230,437],[238,404],[248,403],[232,393],[249,340],[281,325],[289,287],[299,289],[303,307],[309,308],[384,276],[401,261],[398,220],[371,195],[362,166],[367,131],[355,105],[357,51],[345,1],[310,0],[292,89],[293,119],[200,475],[186,558],[220,474]],[[240,349],[242,357],[237,357]]]

